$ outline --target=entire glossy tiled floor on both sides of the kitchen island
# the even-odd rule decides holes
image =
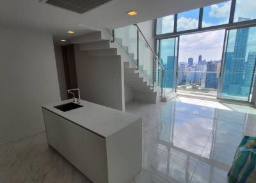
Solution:
[[[244,134],[256,136],[256,109],[178,97],[128,102],[143,117],[143,170],[131,183],[226,182]],[[0,182],[90,182],[58,152],[45,132],[0,145]]]

